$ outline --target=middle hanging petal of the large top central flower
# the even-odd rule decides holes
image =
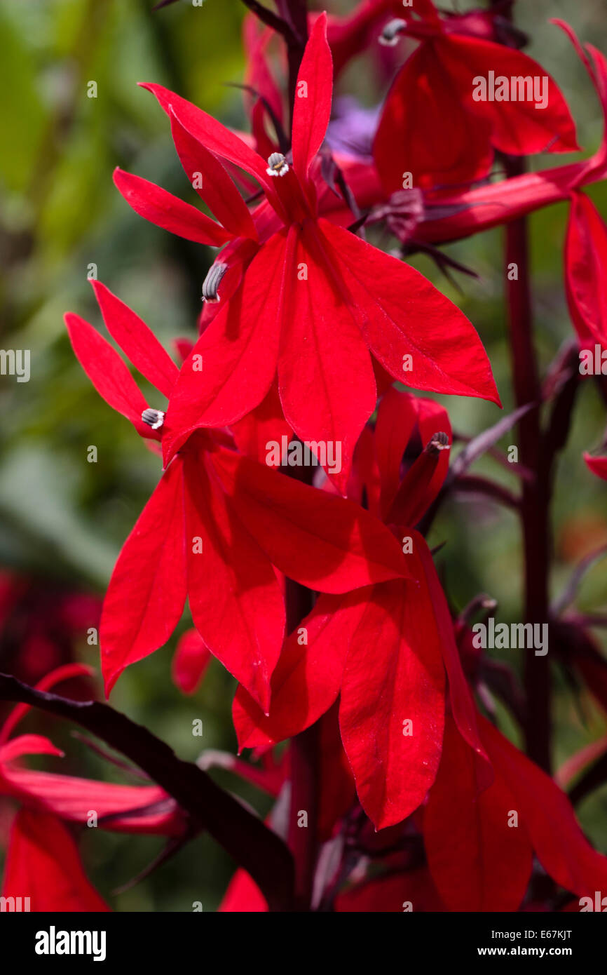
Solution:
[[[370,357],[349,295],[339,289],[310,224],[288,271],[290,300],[279,357],[285,418],[301,440],[340,449],[340,469],[325,470],[344,493],[360,431],[375,408]]]

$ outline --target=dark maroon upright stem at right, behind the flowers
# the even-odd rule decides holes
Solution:
[[[509,176],[524,171],[520,159],[507,161]],[[517,280],[508,269],[517,268]],[[550,465],[540,426],[540,378],[533,341],[533,315],[529,279],[527,221],[512,220],[506,227],[508,320],[511,335],[512,383],[517,407],[537,403],[518,424],[519,460],[534,474],[523,481],[520,517],[524,552],[524,607],[528,623],[548,623],[550,572]],[[550,655],[528,650],[524,661],[526,691],[525,747],[527,755],[550,771]]]

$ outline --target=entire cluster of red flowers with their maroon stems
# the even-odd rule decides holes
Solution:
[[[523,53],[503,5],[445,14],[432,0],[361,0],[347,17],[306,15],[293,0],[279,14],[247,6],[250,134],[160,85],[142,86],[166,113],[187,180],[213,216],[140,176],[114,174],[136,214],[217,249],[197,340],[180,343],[176,365],[135,312],[93,282],[107,331],[158,391],[147,402],[114,345],[65,316],[97,392],[163,467],[105,595],[106,694],[169,642],[187,600],[193,629],[178,643],[173,680],[192,693],[211,656],[223,664],[238,683],[240,749],[256,762],[227,765],[276,797],[277,809],[290,803],[263,829],[290,849],[294,900],[281,904],[265,875],[240,862],[223,911],[577,909],[579,898],[607,890],[607,858],[550,777],[549,728],[535,710],[550,680],[544,661],[526,650],[533,673],[520,691],[479,652],[472,619],[486,617],[488,604],[452,611],[426,535],[444,497],[468,490],[519,512],[533,550],[550,499],[545,468],[584,375],[578,357],[595,363],[598,347],[600,364],[607,343],[607,228],[584,192],[607,175],[607,60],[555,22],[588,72],[606,135],[589,158],[526,173],[523,157],[580,150],[565,98]],[[334,78],[363,52],[394,76],[377,110],[332,95]],[[564,287],[575,339],[541,384],[524,360],[532,339],[513,322],[517,409],[499,419],[473,324],[404,258],[422,251],[447,271],[455,262],[440,245],[508,224],[519,272],[509,277],[511,317],[524,332],[516,228],[558,201],[570,203]],[[390,239],[392,253],[367,236]],[[600,365],[596,378],[606,396]],[[453,459],[462,438],[427,393],[487,400],[495,425]],[[527,444],[519,496],[468,473],[516,423]],[[311,445],[316,470],[292,476],[288,462],[269,465],[268,444],[283,442]],[[328,462],[329,444],[339,445],[339,464]],[[607,480],[604,457],[586,460]],[[527,595],[526,622],[545,622],[548,605]],[[565,608],[550,610],[552,643],[607,709],[603,658]],[[521,723],[527,755],[499,730],[496,697]],[[192,810],[160,778],[122,787],[23,769],[21,756],[57,749],[35,735],[9,739],[17,717],[0,734],[0,791],[23,805],[5,896],[44,856],[47,878],[57,870],[57,879],[42,887],[66,890],[62,909],[104,909],[61,825],[85,822],[89,808],[111,829],[196,834]],[[36,909],[57,908],[42,887]]]

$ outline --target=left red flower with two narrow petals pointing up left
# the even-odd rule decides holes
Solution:
[[[179,372],[168,353],[127,305],[94,288],[108,331],[172,396]],[[65,322],[97,392],[171,453],[171,416],[148,407],[93,326],[73,314]],[[198,430],[173,456],[112,574],[99,628],[106,693],[126,666],[167,643],[189,597],[204,644],[266,710],[285,631],[277,569],[325,593],[408,575],[396,539],[354,502],[240,456],[224,432]]]

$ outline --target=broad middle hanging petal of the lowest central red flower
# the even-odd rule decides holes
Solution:
[[[377,830],[417,809],[440,760],[444,669],[434,607],[418,570],[419,582],[373,588],[344,669],[342,740],[360,802]]]

